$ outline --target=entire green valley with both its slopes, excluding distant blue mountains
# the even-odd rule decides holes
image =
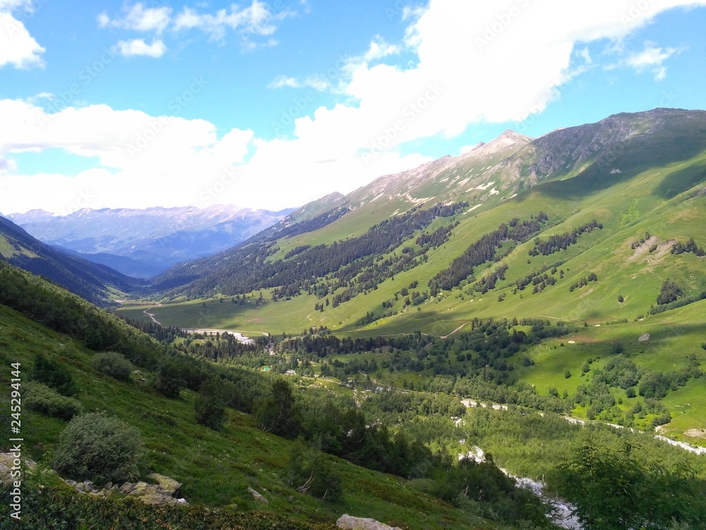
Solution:
[[[342,513],[556,527],[500,467],[573,503],[585,529],[613,510],[591,504],[600,473],[647,492],[613,492],[633,520],[679,491],[650,520],[698,527],[705,186],[706,112],[658,109],[505,131],[143,280],[4,220],[2,344],[27,365],[50,352],[78,382],[74,406],[142,433],[142,474],[246,528],[258,509],[292,528]],[[110,313],[13,268],[39,260],[61,285],[80,271]],[[105,352],[132,363],[127,379],[92,365]],[[28,412],[38,460],[66,425],[47,410]],[[485,461],[462,458],[478,448]]]

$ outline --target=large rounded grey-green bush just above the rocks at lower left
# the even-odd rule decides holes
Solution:
[[[73,418],[54,449],[54,469],[77,481],[122,483],[137,478],[145,447],[140,432],[119,418],[88,413]]]

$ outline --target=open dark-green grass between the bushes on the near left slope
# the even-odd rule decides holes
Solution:
[[[182,493],[192,504],[225,507],[236,503],[239,510],[261,509],[247,493],[251,486],[268,498],[268,510],[310,521],[332,520],[347,512],[402,522],[411,529],[500,528],[422,495],[399,478],[334,457],[327,458],[342,476],[345,501],[332,506],[301,495],[282,478],[292,442],[262,432],[249,416],[229,410],[225,430],[214,432],[194,422],[195,395],[191,391],[183,391],[179,400],[169,400],[134,376],[131,382],[123,383],[95,372],[90,367],[92,353],[80,343],[3,305],[0,330],[3,365],[22,363],[25,380],[37,352],[67,365],[81,389],[84,407],[119,416],[138,428],[148,448],[149,468],[184,483]],[[143,376],[149,378],[150,374],[143,371]],[[8,370],[0,376],[6,388],[9,377]],[[66,423],[27,410],[22,419],[26,450],[33,458],[42,459]],[[7,429],[8,422],[3,425]],[[3,439],[8,437],[4,432]]]

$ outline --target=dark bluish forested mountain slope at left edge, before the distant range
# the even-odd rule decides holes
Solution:
[[[96,305],[107,305],[109,293],[127,293],[143,285],[104,265],[49,247],[0,217],[0,260],[61,285]]]

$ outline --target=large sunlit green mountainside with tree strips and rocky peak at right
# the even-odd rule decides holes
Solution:
[[[590,358],[601,367],[628,355],[640,377],[690,355],[703,368],[705,185],[704,111],[618,114],[536,140],[506,132],[338,199],[348,213],[321,228],[168,271],[160,306],[119,314],[147,319],[153,307],[165,325],[249,336],[454,337],[474,320],[544,319],[568,335],[517,353],[508,374],[540,394],[590,384]],[[660,429],[703,444],[706,415],[686,405],[702,390],[693,379],[664,397],[673,421]],[[606,421],[635,404],[626,389],[611,392],[623,404]]]

